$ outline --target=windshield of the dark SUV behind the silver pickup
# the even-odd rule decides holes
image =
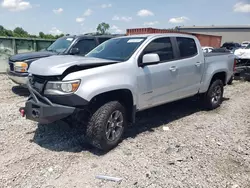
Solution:
[[[64,52],[69,48],[71,43],[73,42],[74,38],[59,38],[54,43],[52,43],[48,48],[47,51],[51,52]]]

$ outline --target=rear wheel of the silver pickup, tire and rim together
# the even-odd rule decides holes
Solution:
[[[214,80],[204,95],[205,107],[208,110],[218,108],[223,100],[224,85],[221,80]]]

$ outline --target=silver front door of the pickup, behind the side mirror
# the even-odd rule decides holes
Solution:
[[[157,38],[142,52],[157,53],[160,63],[138,68],[139,109],[146,109],[176,98],[178,71],[173,45],[169,37]],[[142,58],[141,58],[142,59]]]

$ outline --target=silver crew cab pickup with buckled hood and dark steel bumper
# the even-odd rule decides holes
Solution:
[[[109,151],[138,111],[194,95],[202,96],[207,109],[219,107],[234,64],[231,53],[203,53],[191,35],[117,37],[85,57],[32,63],[31,95],[20,112],[42,124],[77,120],[90,144]]]

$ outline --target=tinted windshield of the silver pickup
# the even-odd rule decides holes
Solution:
[[[90,51],[86,57],[126,61],[132,56],[135,50],[144,42],[145,39],[145,37],[109,39]]]

